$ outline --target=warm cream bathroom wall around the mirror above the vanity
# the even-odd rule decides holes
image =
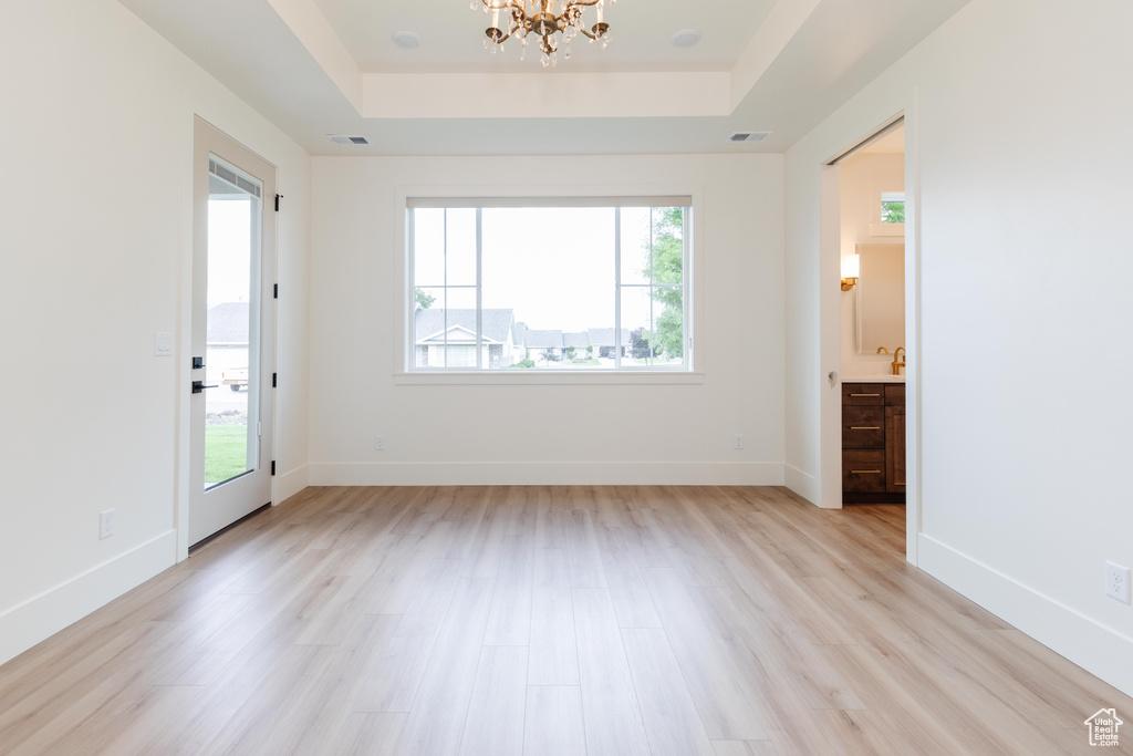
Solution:
[[[842,227],[842,256],[854,254],[859,244],[904,244],[903,236],[874,236],[880,221],[881,192],[904,192],[905,156],[893,153],[859,153],[838,163],[840,206]],[[889,375],[893,357],[878,354],[859,354],[857,323],[859,287],[840,296],[842,377],[870,377]],[[886,298],[888,299],[888,298]],[[901,306],[894,305],[894,313]],[[889,321],[887,321],[888,323]],[[900,321],[892,321],[900,330]],[[886,345],[891,350],[904,342]],[[876,351],[876,350],[875,350]]]

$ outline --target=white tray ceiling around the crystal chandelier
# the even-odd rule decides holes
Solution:
[[[782,152],[968,0],[619,0],[555,69],[485,52],[469,0],[120,2],[312,154],[494,155]]]

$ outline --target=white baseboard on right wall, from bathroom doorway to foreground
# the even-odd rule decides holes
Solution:
[[[1133,638],[927,536],[919,567],[1087,672],[1133,696]],[[1091,712],[1084,712],[1087,717]]]

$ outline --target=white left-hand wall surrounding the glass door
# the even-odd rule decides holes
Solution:
[[[0,662],[177,559],[194,112],[275,163],[287,195],[283,472],[307,459],[309,240],[306,153],[117,2],[8,3],[5,26]],[[156,331],[174,357],[153,356]]]

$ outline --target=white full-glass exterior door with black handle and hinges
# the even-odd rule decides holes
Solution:
[[[275,168],[201,119],[193,154],[189,545],[271,503],[275,364]]]

